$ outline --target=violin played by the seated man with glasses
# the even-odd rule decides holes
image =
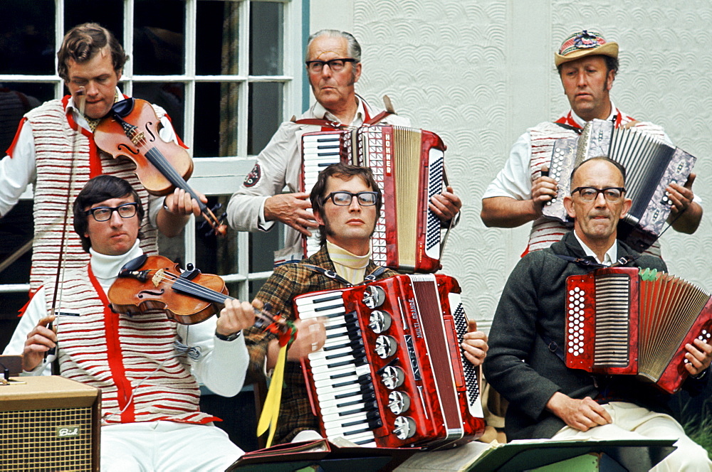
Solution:
[[[192,264],[182,272],[179,264],[167,257],[145,254],[121,268],[107,296],[110,309],[115,313],[137,315],[158,310],[186,325],[219,316],[221,305],[227,299],[234,300],[221,277],[203,274]],[[256,328],[281,331],[281,326],[277,326],[281,325],[279,316],[257,309],[255,313]]]

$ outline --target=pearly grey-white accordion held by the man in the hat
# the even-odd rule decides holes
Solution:
[[[645,132],[594,119],[577,138],[555,141],[549,175],[557,181],[557,196],[544,206],[545,216],[572,223],[563,205],[571,171],[598,156],[607,156],[626,169],[626,196],[633,205],[618,225],[618,239],[642,252],[659,237],[670,215],[665,189],[671,183],[684,185],[696,158]]]

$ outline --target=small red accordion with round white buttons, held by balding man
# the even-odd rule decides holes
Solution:
[[[664,272],[609,267],[566,280],[567,367],[638,375],[665,392],[688,372],[685,345],[712,336],[710,294]]]

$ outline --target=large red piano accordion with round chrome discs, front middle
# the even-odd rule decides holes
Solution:
[[[295,297],[324,317],[324,347],[303,361],[322,434],[362,446],[454,446],[484,431],[478,368],[460,347],[460,287],[442,274],[389,277]]]

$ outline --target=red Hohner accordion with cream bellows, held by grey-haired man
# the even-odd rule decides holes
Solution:
[[[435,272],[444,240],[428,203],[447,185],[445,149],[437,134],[389,125],[307,133],[300,191],[310,192],[319,172],[333,163],[370,167],[384,195],[372,259],[399,272]],[[304,247],[307,256],[317,252],[318,233],[305,238]]]

